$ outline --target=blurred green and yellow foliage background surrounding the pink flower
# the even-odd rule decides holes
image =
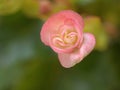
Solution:
[[[95,49],[63,68],[39,36],[52,14],[83,16]],[[120,90],[120,0],[0,0],[0,90]]]

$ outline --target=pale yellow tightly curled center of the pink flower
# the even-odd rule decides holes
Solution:
[[[78,40],[78,35],[75,30],[66,30],[61,34],[53,37],[53,44],[59,48],[67,48],[73,46]]]

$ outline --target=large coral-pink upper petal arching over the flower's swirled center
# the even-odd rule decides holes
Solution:
[[[71,20],[74,21],[75,27],[82,34],[84,27],[84,21],[82,17],[74,11],[64,10],[52,15],[44,24],[40,31],[40,38],[45,45],[49,45],[51,42],[51,36],[59,32],[61,25],[71,24]]]

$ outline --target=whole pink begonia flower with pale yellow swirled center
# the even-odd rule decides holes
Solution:
[[[43,25],[41,40],[58,54],[63,67],[74,66],[93,50],[95,37],[83,28],[82,17],[71,10],[54,14]]]

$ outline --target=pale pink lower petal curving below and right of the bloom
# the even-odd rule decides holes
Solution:
[[[84,33],[84,41],[82,46],[70,54],[58,54],[60,63],[63,67],[70,68],[79,63],[87,56],[95,46],[95,38],[90,33]]]

